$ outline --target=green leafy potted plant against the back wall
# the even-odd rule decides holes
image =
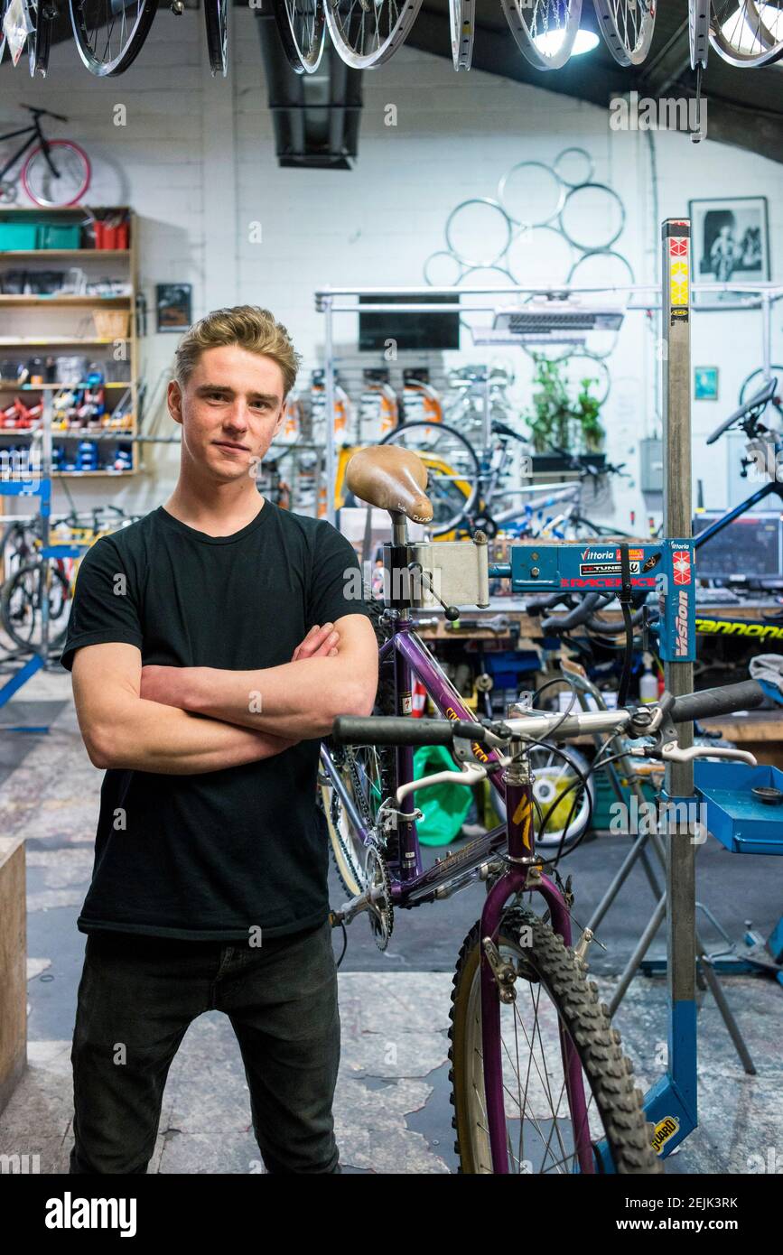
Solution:
[[[532,410],[525,415],[533,446],[533,473],[562,472],[578,463],[601,466],[606,432],[601,424],[601,403],[592,388],[597,379],[578,382],[575,398],[562,374],[562,364],[536,356]]]

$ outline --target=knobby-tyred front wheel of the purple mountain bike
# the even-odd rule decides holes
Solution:
[[[453,980],[449,1060],[462,1172],[492,1173],[484,1086],[481,921]],[[572,949],[533,911],[509,907],[496,937],[513,965],[514,1000],[499,1003],[499,1059],[509,1173],[659,1173],[652,1126],[620,1034]],[[601,1146],[601,1153],[599,1153]],[[611,1163],[604,1155],[609,1152]]]

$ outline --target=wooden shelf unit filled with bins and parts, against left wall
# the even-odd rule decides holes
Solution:
[[[129,246],[127,248],[83,247],[90,235],[90,223],[95,218],[102,220],[109,215],[123,215],[127,218]],[[124,477],[134,474],[138,469],[138,444],[130,443],[128,446],[128,441],[137,434],[138,417],[136,221],[133,213],[127,206],[99,206],[95,208],[75,206],[61,210],[6,206],[0,207],[0,228],[4,223],[24,228],[21,230],[21,237],[18,231],[14,235],[18,236],[19,242],[25,245],[28,240],[24,236],[30,236],[30,228],[39,223],[45,223],[44,231],[39,232],[38,242],[41,242],[41,235],[44,237],[48,236],[49,242],[53,242],[55,247],[0,248],[0,361],[5,359],[8,369],[9,358],[13,359],[14,350],[24,350],[29,358],[83,356],[90,368],[94,361],[95,368],[104,374],[104,378],[110,364],[115,373],[122,373],[123,378],[119,380],[109,378],[103,385],[105,389],[104,403],[108,413],[127,397],[128,390],[130,393],[130,423],[127,428],[103,427],[58,430],[54,427],[51,433],[54,447],[65,451],[65,461],[72,461],[73,458],[74,442],[83,439],[97,446],[99,458],[104,456],[108,458],[109,454],[114,456],[117,444],[123,444],[125,448],[129,447],[132,456],[130,468],[118,471],[113,467],[100,467],[99,469],[54,471],[53,474],[65,478],[70,476]],[[68,228],[75,236],[78,247],[60,247],[63,242],[70,242],[63,241],[63,231],[68,231]],[[74,228],[78,230],[78,236]],[[36,242],[35,238],[31,242]],[[44,238],[43,242],[46,242],[46,240]],[[14,271],[24,271],[33,280],[36,275],[41,275],[43,271],[54,271],[65,276],[63,286],[69,280],[72,280],[70,286],[77,286],[73,284],[73,276],[68,276],[67,274],[73,269],[83,271],[88,284],[99,284],[109,277],[125,285],[128,291],[124,295],[73,291],[55,291],[53,295],[48,295],[45,292],[9,292],[5,290],[6,285],[9,285],[9,275]],[[105,315],[114,312],[127,314],[127,328],[122,329],[127,334],[119,336],[107,335],[105,328],[100,326],[100,324],[97,325],[92,318],[93,314],[100,312]],[[109,346],[114,350],[123,346],[119,359],[115,356],[115,353],[102,351]],[[82,354],[78,354],[79,349],[83,350]],[[19,351],[18,356],[19,361],[25,361],[23,351]],[[117,364],[118,361],[119,365]],[[36,374],[43,374],[45,378],[49,374],[46,365],[41,364],[41,369]],[[39,397],[46,393],[56,394],[64,388],[77,389],[79,387],[87,387],[87,382],[83,379],[80,383],[74,384],[51,382],[18,384],[13,376],[6,376],[5,369],[0,368],[0,410],[9,409],[15,397],[20,399],[24,397],[25,407],[33,408],[35,405],[35,394]],[[34,423],[31,427],[0,428],[0,437],[14,437],[18,441],[23,441],[25,437],[28,439],[33,437],[38,429],[38,423]],[[61,442],[59,446],[58,441]],[[3,446],[5,447],[5,444],[6,441],[3,439]]]

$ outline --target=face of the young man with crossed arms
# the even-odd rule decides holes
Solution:
[[[191,462],[223,482],[255,473],[284,417],[282,370],[237,345],[207,349],[184,389],[168,387]]]

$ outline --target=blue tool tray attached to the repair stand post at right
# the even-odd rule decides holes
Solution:
[[[769,806],[750,792],[783,792],[783,772],[748,763],[695,762],[696,796],[706,802],[706,826],[722,846],[739,855],[783,855],[783,803]]]

